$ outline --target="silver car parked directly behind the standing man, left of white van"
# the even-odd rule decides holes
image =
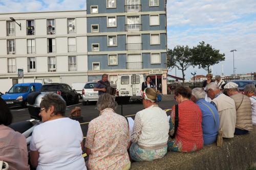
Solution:
[[[82,104],[86,105],[91,101],[98,101],[98,91],[94,91],[94,86],[97,82],[87,82],[82,89]]]

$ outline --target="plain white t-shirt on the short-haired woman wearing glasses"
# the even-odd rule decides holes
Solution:
[[[67,117],[36,126],[30,142],[30,150],[39,152],[36,170],[86,170],[82,139],[79,122]]]

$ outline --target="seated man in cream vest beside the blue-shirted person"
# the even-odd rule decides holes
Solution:
[[[211,104],[214,105],[220,116],[220,129],[222,129],[222,137],[234,137],[234,127],[236,126],[237,113],[234,100],[223,94],[216,83],[209,83],[205,87],[206,93]]]

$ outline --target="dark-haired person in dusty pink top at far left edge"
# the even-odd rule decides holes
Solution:
[[[1,97],[0,108],[0,160],[7,162],[9,169],[29,170],[26,138],[7,127],[12,123],[12,114]]]

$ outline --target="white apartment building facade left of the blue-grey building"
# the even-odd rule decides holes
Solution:
[[[0,90],[23,81],[88,81],[86,28],[85,10],[0,14]]]

